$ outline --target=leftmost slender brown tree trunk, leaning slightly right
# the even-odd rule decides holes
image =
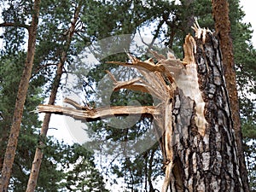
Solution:
[[[11,177],[12,167],[15,160],[15,151],[17,148],[18,137],[20,134],[20,124],[23,114],[24,103],[26,101],[26,92],[29,85],[29,79],[32,73],[32,65],[35,55],[36,37],[38,29],[38,15],[40,9],[40,0],[34,1],[32,23],[28,27],[28,45],[26,53],[25,67],[20,79],[20,85],[17,93],[15,112],[12,126],[9,133],[9,141],[3,160],[3,168],[1,172],[0,191],[5,192],[9,186],[9,179]]]

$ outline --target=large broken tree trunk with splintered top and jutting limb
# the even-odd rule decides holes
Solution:
[[[136,67],[144,77],[119,82],[109,73],[113,90],[141,90],[160,100],[151,111],[142,107],[140,113],[151,113],[159,127],[166,173],[162,192],[244,191],[218,39],[199,26],[194,29],[195,38],[185,38],[183,61],[152,51],[156,64],[131,55],[131,63],[111,62]],[[78,109],[77,103],[68,103]],[[82,108],[79,119],[83,115],[93,120],[106,117],[106,113],[120,114],[120,108],[132,107]],[[38,110],[77,118],[74,109],[46,105]]]

